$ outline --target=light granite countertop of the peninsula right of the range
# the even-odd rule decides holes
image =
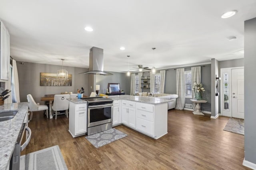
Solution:
[[[113,100],[130,100],[130,101],[138,101],[142,103],[149,103],[149,104],[160,104],[160,103],[167,103],[171,100],[168,99],[160,99],[156,97],[143,97],[143,96],[132,96],[132,95],[112,95],[108,96],[109,99]]]

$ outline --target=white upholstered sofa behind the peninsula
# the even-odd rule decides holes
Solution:
[[[144,97],[157,97],[160,99],[169,99],[171,101],[168,102],[168,109],[173,109],[176,107],[176,99],[179,97],[176,94],[148,93],[148,92],[136,93],[135,95],[136,96],[144,96]]]

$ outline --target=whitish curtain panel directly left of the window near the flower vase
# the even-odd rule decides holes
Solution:
[[[186,102],[184,68],[176,69],[176,93],[179,97],[175,109],[183,110]]]

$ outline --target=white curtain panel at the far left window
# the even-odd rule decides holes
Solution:
[[[12,102],[20,103],[20,88],[19,88],[19,77],[17,63],[12,60]]]

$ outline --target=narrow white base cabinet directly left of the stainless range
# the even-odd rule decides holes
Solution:
[[[69,102],[69,130],[73,137],[87,132],[87,103]]]

